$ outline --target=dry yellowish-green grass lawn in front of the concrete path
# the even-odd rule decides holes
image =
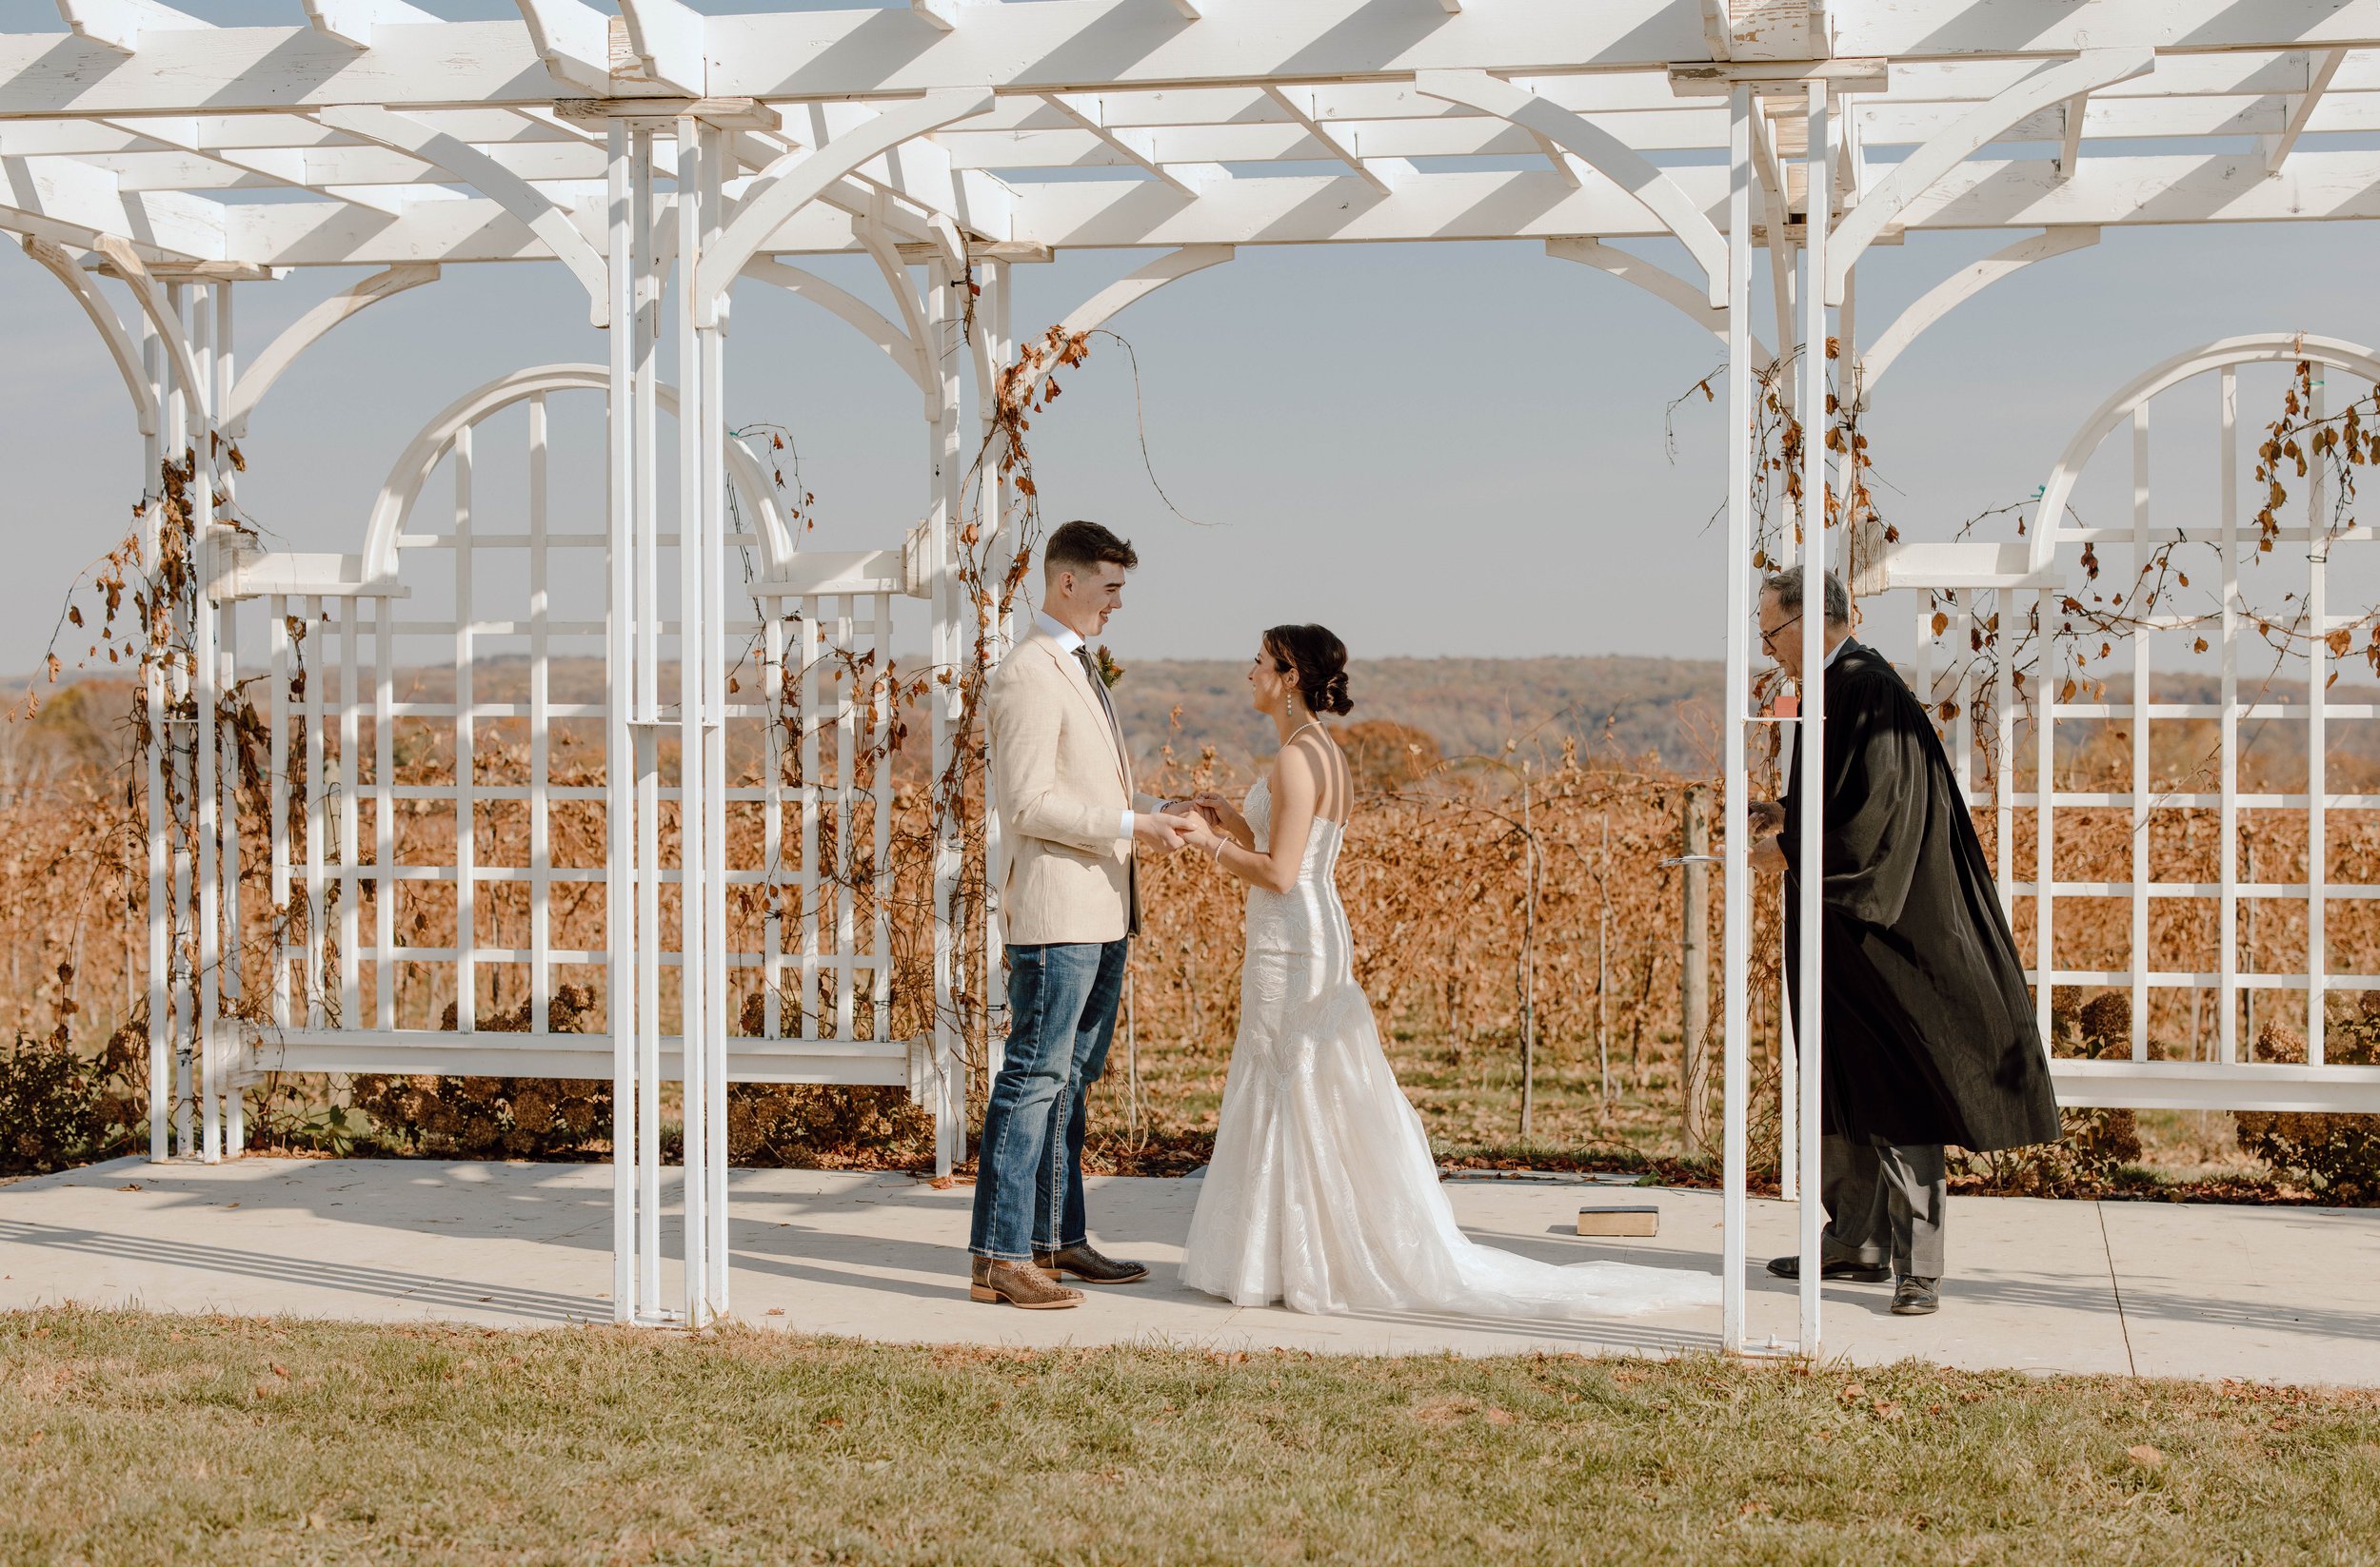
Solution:
[[[0,1315],[14,1562],[2370,1562],[2380,1398]]]

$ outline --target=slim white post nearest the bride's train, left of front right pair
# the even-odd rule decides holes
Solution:
[[[1745,1165],[1752,1096],[1752,863],[1749,770],[1745,725],[1752,720],[1752,88],[1728,95],[1728,692],[1726,744],[1726,1110],[1721,1168],[1726,1184],[1718,1248],[1721,1348],[1745,1348]]]

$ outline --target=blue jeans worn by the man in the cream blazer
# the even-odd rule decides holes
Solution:
[[[1083,1094],[1107,1070],[1128,942],[1009,949],[1009,1049],[983,1108],[978,1258],[1026,1260],[1088,1239]]]

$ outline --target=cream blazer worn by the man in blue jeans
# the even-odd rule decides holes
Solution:
[[[1133,792],[1123,737],[1083,663],[1035,625],[985,697],[992,794],[1007,868],[1000,908],[1012,946],[1116,942],[1133,925]]]

